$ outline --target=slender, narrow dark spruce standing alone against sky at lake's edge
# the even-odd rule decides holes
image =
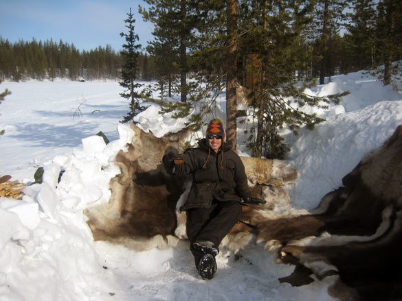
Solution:
[[[124,20],[126,23],[125,27],[129,29],[126,34],[122,32],[120,36],[124,37],[126,43],[122,45],[123,50],[120,52],[122,56],[122,82],[120,86],[125,89],[124,93],[120,93],[120,96],[130,100],[130,111],[126,116],[123,117],[122,123],[132,121],[134,122],[134,117],[142,112],[146,108],[139,105],[139,100],[142,98],[137,89],[142,86],[138,82],[135,82],[138,78],[138,64],[137,58],[139,56],[138,49],[141,45],[135,44],[139,40],[138,35],[134,32],[135,19],[133,14],[130,12],[127,14],[128,18]]]

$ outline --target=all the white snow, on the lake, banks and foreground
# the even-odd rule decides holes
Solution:
[[[273,263],[275,254],[250,246],[240,256],[222,250],[210,281],[194,269],[188,242],[144,252],[94,242],[85,208],[109,202],[109,180],[120,169],[115,154],[133,131],[119,120],[128,111],[117,82],[3,82],[12,95],[0,106],[0,175],[30,184],[44,168],[43,183],[24,190],[23,200],[0,199],[0,300],[335,300],[331,277],[303,287],[280,284],[293,266]],[[350,91],[338,105],[314,109],[326,118],[299,136],[284,132],[289,162],[299,180],[288,187],[295,208],[315,208],[342,185],[371,149],[402,124],[402,95],[364,72],[333,77],[309,93]],[[159,115],[155,104],[137,117],[156,136],[177,132],[186,119]],[[217,101],[216,112],[225,112]],[[304,108],[304,110],[310,110]],[[82,114],[82,117],[81,117]],[[218,116],[222,118],[223,116]],[[238,149],[249,155],[238,125]],[[111,143],[104,143],[99,131]],[[202,136],[196,133],[192,139]],[[58,176],[64,171],[60,183]]]

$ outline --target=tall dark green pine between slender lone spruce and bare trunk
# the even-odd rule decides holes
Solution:
[[[161,91],[161,99],[178,93],[183,102],[188,101],[192,93],[192,84],[188,81],[191,70],[192,49],[197,47],[195,30],[203,18],[197,0],[145,0],[148,9],[139,7],[145,21],[154,25],[153,36],[146,48],[155,56],[156,75]]]

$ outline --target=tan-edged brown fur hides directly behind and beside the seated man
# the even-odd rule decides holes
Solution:
[[[186,239],[186,214],[177,211],[178,201],[185,201],[191,178],[169,175],[161,159],[166,152],[181,153],[190,131],[157,138],[133,124],[131,129],[134,135],[128,151],[120,151],[115,159],[122,173],[111,180],[109,204],[85,212],[93,238],[136,250],[177,245],[179,239]],[[289,213],[290,198],[282,186],[297,179],[297,171],[282,160],[242,160],[253,196],[264,197],[267,204],[245,207],[244,222],[222,243],[234,251],[255,238],[257,224],[249,224],[250,220]]]

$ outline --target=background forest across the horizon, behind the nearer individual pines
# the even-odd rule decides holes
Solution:
[[[147,2],[153,5],[155,10],[164,8],[166,13],[164,16],[152,16],[152,12],[140,11],[148,21],[164,24],[153,32],[155,40],[148,47],[142,48],[143,51],[139,53],[137,61],[139,79],[155,80],[166,73],[166,70],[175,77],[179,75],[180,68],[183,68],[180,63],[179,41],[178,38],[176,40],[173,38],[179,33],[179,27],[186,25],[183,26],[183,30],[186,28],[185,31],[188,32],[186,51],[188,57],[194,56],[197,54],[197,51],[192,52],[192,49],[197,49],[194,43],[203,42],[201,37],[194,39],[194,29],[200,25],[195,24],[200,21],[194,20],[194,16],[199,14],[205,20],[213,16],[207,16],[205,10],[208,8],[195,4],[197,1]],[[215,2],[219,3],[219,1]],[[225,4],[225,1],[221,2]],[[179,7],[181,3],[186,3],[187,8],[184,8],[186,12]],[[296,65],[303,67],[296,67],[293,70],[298,76],[307,73],[313,77],[331,77],[339,73],[373,69],[386,64],[387,60],[401,60],[402,12],[399,1],[292,0],[281,3],[282,1],[267,0],[239,1],[236,5],[238,35],[241,36],[239,39],[247,36],[239,41],[242,44],[237,49],[239,67],[245,66],[243,61],[249,60],[252,54],[257,52],[252,49],[255,47],[252,43],[267,42],[270,36],[267,27],[279,25],[280,20],[269,24],[267,18],[264,20],[264,15],[276,16],[285,24],[291,23],[293,35],[283,36],[283,38],[291,38],[295,43],[291,43],[287,51],[302,51],[306,54],[289,57],[290,60],[298,61]],[[219,4],[216,5],[219,6]],[[293,21],[297,23],[292,23],[289,19],[291,15],[280,13],[280,5],[283,5],[284,12],[294,9]],[[285,5],[287,7],[284,7]],[[139,18],[141,14],[135,14],[135,16]],[[300,19],[301,16],[303,20]],[[219,22],[225,22],[222,21],[225,16],[215,14],[215,17],[219,19]],[[255,28],[250,28],[250,25],[245,23],[246,17],[251,18],[249,20],[254,22]],[[265,36],[263,36],[264,30]],[[292,50],[291,47],[296,49]],[[162,64],[161,58],[169,58],[169,60]],[[166,67],[166,64],[170,66]],[[71,80],[118,79],[121,65],[120,53],[112,49],[110,45],[99,46],[90,51],[80,51],[73,43],[69,44],[63,40],[57,43],[52,39],[36,41],[33,38],[31,41],[19,40],[19,42],[10,43],[0,36],[1,80],[20,81],[27,78],[52,80],[56,77],[67,77]]]

